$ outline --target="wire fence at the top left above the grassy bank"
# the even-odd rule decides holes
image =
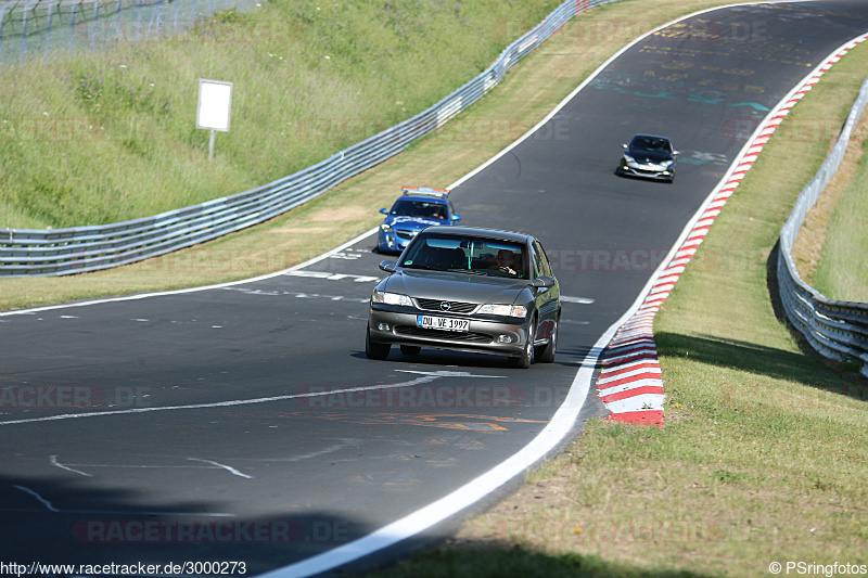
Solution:
[[[181,35],[257,0],[0,0],[0,66]]]

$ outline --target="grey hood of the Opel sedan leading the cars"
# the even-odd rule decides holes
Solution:
[[[385,291],[416,298],[506,305],[516,303],[522,291],[529,286],[524,280],[407,269],[393,273],[385,281]]]

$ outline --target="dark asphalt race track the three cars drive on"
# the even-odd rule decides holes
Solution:
[[[462,224],[533,233],[556,262],[574,299],[552,364],[397,348],[368,360],[367,301],[388,258],[373,236],[259,281],[0,316],[0,561],[260,574],[490,470],[545,427],[768,111],[866,30],[857,1],[674,24],[455,188]],[[614,175],[637,132],[673,140],[674,183]],[[574,434],[605,415],[592,394]]]

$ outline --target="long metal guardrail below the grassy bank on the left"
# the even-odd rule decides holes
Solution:
[[[117,267],[190,247],[285,213],[435,131],[499,84],[513,64],[574,15],[611,1],[616,0],[567,0],[507,47],[488,69],[429,110],[264,187],[113,224],[0,229],[0,278],[63,275]]]

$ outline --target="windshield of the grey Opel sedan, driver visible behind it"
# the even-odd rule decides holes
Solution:
[[[417,237],[398,265],[408,269],[529,278],[527,254],[522,244],[477,236],[427,234]]]

